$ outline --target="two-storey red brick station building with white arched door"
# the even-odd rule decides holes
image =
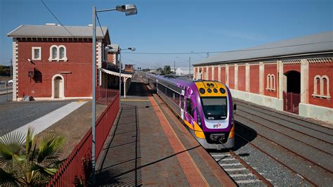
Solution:
[[[103,31],[102,31],[103,30]],[[91,98],[92,27],[21,25],[13,37],[13,101]],[[96,30],[96,65],[107,62],[107,27]],[[97,71],[97,85],[105,81]]]

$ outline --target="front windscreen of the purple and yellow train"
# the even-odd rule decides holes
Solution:
[[[207,120],[224,120],[227,117],[227,98],[203,97],[202,108]]]

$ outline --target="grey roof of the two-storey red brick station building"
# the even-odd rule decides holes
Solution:
[[[96,38],[104,38],[107,27],[96,27]],[[104,35],[103,35],[104,34]],[[7,34],[8,37],[61,37],[61,38],[91,38],[92,26],[62,26],[55,24],[47,25],[20,25]]]

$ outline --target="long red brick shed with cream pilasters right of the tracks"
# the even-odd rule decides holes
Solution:
[[[332,58],[333,32],[325,32],[211,56],[194,76],[244,101],[333,122]]]

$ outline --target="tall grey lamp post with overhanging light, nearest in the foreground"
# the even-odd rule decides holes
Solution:
[[[92,103],[92,119],[91,119],[91,131],[92,131],[92,147],[91,147],[91,165],[92,165],[92,183],[95,185],[95,129],[96,129],[96,13],[106,12],[106,11],[120,11],[125,12],[125,15],[134,15],[138,13],[136,6],[134,4],[126,4],[122,6],[116,6],[116,8],[105,9],[96,11],[96,6],[93,6],[93,101]],[[119,96],[120,100],[120,96]]]

